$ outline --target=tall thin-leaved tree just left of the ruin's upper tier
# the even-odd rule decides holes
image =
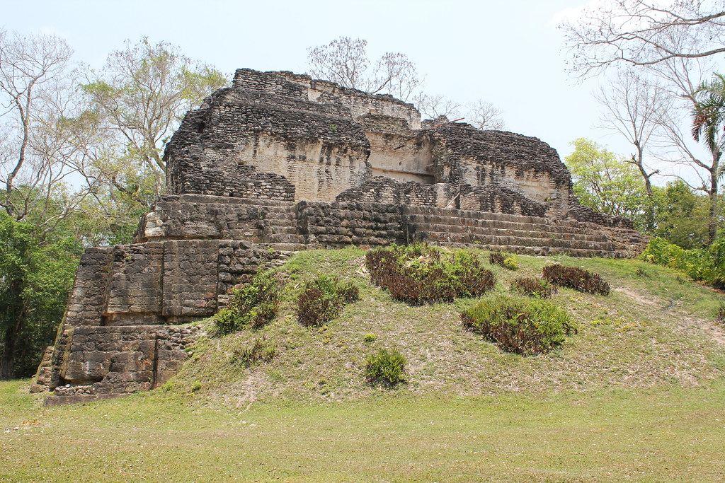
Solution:
[[[96,156],[96,162],[115,190],[141,205],[162,193],[165,143],[184,114],[225,83],[225,75],[213,67],[192,61],[176,46],[152,44],[148,38],[127,43],[124,50],[108,56],[102,70],[91,71],[83,85],[88,109],[98,117],[97,129],[107,130],[117,148]],[[133,179],[138,173],[143,180]]]

